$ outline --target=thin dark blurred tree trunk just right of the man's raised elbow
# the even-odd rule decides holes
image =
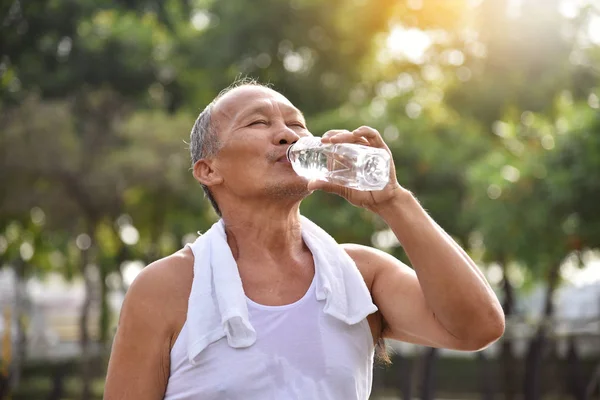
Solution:
[[[504,291],[504,301],[502,303],[502,309],[507,320],[514,313],[515,306],[515,294],[514,288],[508,278],[507,263],[506,260],[500,260],[502,268],[502,290]],[[509,326],[510,329],[510,326]],[[502,338],[502,380],[504,386],[504,400],[515,400],[517,391],[515,388],[515,366],[517,362],[513,352],[513,342],[510,335],[510,330]]]

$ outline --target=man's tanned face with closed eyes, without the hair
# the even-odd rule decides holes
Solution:
[[[239,87],[217,102],[212,118],[221,142],[212,165],[223,178],[214,190],[241,198],[308,194],[286,150],[311,134],[302,113],[283,95],[259,86]]]

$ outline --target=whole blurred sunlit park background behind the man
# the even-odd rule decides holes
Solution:
[[[189,171],[236,77],[371,125],[507,316],[479,353],[390,342],[373,399],[600,398],[600,1],[0,1],[0,398],[100,399],[123,296],[217,217]],[[406,261],[375,215],[302,212]]]

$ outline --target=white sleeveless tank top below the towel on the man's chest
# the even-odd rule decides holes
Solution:
[[[256,342],[234,349],[225,338],[191,365],[183,325],[171,350],[165,400],[367,400],[374,345],[366,319],[348,325],[323,312],[315,280],[298,301],[265,306],[246,298]]]

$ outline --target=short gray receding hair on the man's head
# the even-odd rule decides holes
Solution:
[[[192,132],[190,133],[190,156],[192,158],[192,167],[198,160],[203,158],[214,157],[221,148],[221,143],[219,142],[218,126],[215,121],[212,120],[212,112],[215,108],[215,104],[217,101],[232,91],[235,88],[241,86],[261,86],[268,87],[267,85],[263,85],[252,78],[240,78],[236,79],[231,85],[223,89],[217,97],[207,105],[204,110],[198,115],[194,126],[192,127]],[[205,197],[210,201],[210,204],[214,208],[215,212],[219,217],[222,216],[221,209],[217,204],[215,198],[208,186],[204,184],[200,184],[202,190],[204,190]]]

